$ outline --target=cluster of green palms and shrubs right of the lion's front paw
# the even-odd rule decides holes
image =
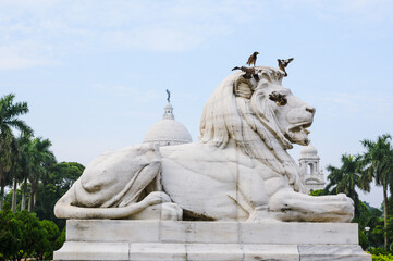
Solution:
[[[340,167],[327,167],[330,174],[324,192],[344,192],[354,200],[353,222],[359,224],[359,244],[364,249],[381,246],[389,249],[389,241],[393,241],[393,216],[389,212],[393,200],[388,198],[388,191],[393,190],[393,150],[390,140],[391,136],[388,134],[379,136],[376,141],[361,140],[366,152],[357,156],[343,154]],[[361,202],[356,191],[369,191],[372,181],[383,188],[382,211]]]

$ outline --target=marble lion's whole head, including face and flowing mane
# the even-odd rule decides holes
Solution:
[[[251,79],[233,73],[219,85],[205,104],[199,140],[219,148],[233,142],[302,190],[299,170],[286,150],[309,142],[315,109],[282,86],[282,71],[258,66],[256,72]]]

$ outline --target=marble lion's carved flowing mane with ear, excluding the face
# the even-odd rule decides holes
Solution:
[[[234,142],[250,158],[286,175],[290,185],[302,191],[300,171],[286,152],[292,145],[280,128],[266,92],[269,85],[281,85],[283,73],[271,67],[256,69],[259,80],[244,80],[242,72],[235,72],[213,91],[202,111],[199,140],[221,149]]]

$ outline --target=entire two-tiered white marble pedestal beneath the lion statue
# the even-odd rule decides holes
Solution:
[[[54,260],[361,260],[357,224],[69,220]]]

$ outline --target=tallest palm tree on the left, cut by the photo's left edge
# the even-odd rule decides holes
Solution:
[[[14,147],[14,135],[12,128],[22,133],[33,133],[32,128],[17,116],[28,112],[26,102],[14,103],[14,95],[0,98],[0,210],[2,208],[7,173],[12,165],[12,148]]]

